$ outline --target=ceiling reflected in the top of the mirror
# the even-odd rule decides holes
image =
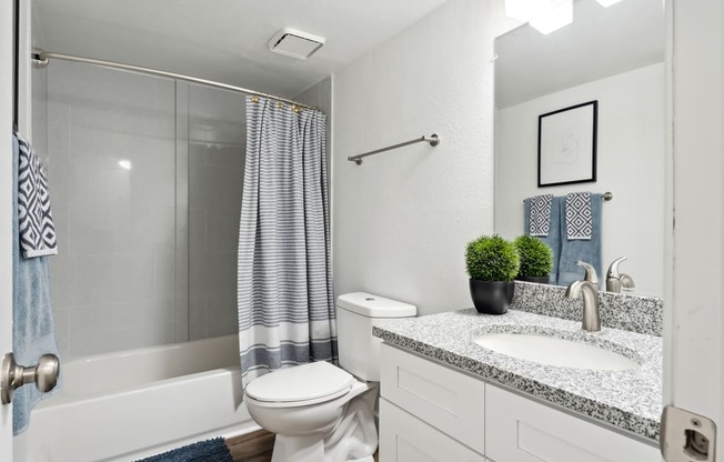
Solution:
[[[495,40],[497,109],[664,60],[662,0],[573,4],[573,22],[549,36],[525,24]]]

